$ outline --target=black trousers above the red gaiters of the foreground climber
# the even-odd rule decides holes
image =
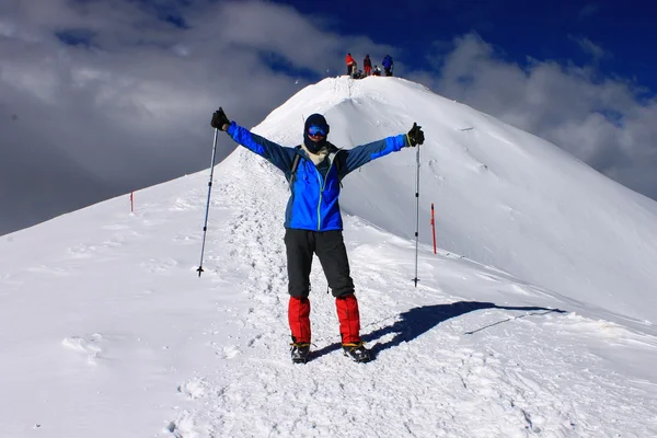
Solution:
[[[342,231],[308,231],[286,229],[285,246],[288,262],[288,291],[306,298],[310,292],[312,255],[316,254],[334,297],[354,293],[349,260]]]

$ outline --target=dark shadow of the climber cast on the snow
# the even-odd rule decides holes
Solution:
[[[523,313],[514,318],[507,318],[506,320],[502,320],[493,324],[488,324],[486,326],[465,332],[464,334],[471,335],[473,333],[488,328],[493,325],[502,324],[518,318],[525,318],[537,314],[541,315],[548,313],[566,313],[566,311],[560,309],[496,306],[492,302],[480,301],[458,301],[451,304],[423,306],[419,308],[410,309],[406,312],[400,314],[401,319],[399,321],[395,321],[392,325],[376,330],[369,334],[364,335],[361,338],[366,344],[374,343],[379,338],[388,334],[394,333],[394,337],[392,339],[387,341],[384,343],[377,343],[372,346],[372,348],[370,349],[370,356],[372,359],[374,359],[377,357],[377,354],[379,354],[380,351],[388,348],[396,347],[403,342],[411,342],[419,335],[434,328],[441,322],[449,320],[450,318],[460,316],[462,314],[482,309],[519,310],[528,313]],[[312,358],[315,359],[331,351],[335,351],[339,349],[341,346],[342,345],[339,343],[335,343],[327,345],[321,349],[314,350],[312,351]]]

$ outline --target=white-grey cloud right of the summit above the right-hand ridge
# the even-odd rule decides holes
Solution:
[[[555,142],[631,188],[657,198],[657,99],[595,66],[506,60],[479,35],[434,55],[440,76],[412,78],[521,129]]]

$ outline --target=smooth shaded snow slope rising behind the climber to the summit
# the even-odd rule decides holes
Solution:
[[[258,129],[295,143],[300,115],[321,112],[332,125],[331,140],[351,148],[417,122],[427,138],[420,155],[424,243],[431,242],[435,203],[438,246],[657,334],[657,203],[535,136],[419,84],[380,79],[326,79]],[[362,168],[345,180],[341,206],[412,239],[416,168],[411,152]]]

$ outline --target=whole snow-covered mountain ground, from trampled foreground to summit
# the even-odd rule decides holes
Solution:
[[[338,147],[427,137],[417,287],[416,149],[345,180],[376,360],[342,355],[315,261],[314,355],[290,362],[288,187],[240,147],[215,169],[200,278],[209,171],[2,238],[0,436],[657,436],[655,201],[397,78],[323,80],[254,131],[295,146],[314,112]]]

